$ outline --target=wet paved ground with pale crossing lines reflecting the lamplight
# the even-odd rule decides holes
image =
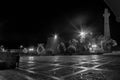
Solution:
[[[29,56],[20,67],[0,70],[0,80],[120,80],[118,56]]]

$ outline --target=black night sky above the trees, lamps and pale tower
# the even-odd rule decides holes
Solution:
[[[0,16],[0,40],[7,47],[36,45],[46,42],[51,34],[59,34],[64,39],[74,38],[71,22],[92,28],[103,34],[103,12],[109,8],[103,0],[80,0],[79,2],[39,2],[24,4],[19,9],[7,9]],[[110,10],[110,8],[109,8]],[[112,38],[119,42],[120,25],[111,12],[110,28]]]

